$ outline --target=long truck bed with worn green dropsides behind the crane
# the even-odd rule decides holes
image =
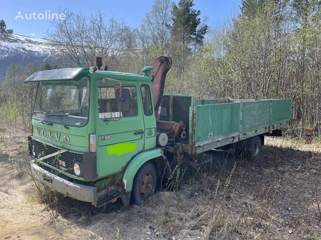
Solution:
[[[164,95],[162,121],[183,121],[187,137],[183,151],[190,155],[219,148],[291,122],[291,99],[194,100],[192,95]]]

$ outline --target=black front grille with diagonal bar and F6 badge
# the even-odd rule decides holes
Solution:
[[[35,139],[32,139],[32,145],[34,146],[36,157],[40,159],[41,157],[47,156],[60,150],[60,148],[56,148],[46,143],[39,142]],[[72,175],[74,175],[73,167],[75,162],[81,163],[83,165],[82,154],[71,151],[66,151],[61,153],[60,155],[48,157],[44,159],[43,162]],[[62,166],[63,162],[65,162],[65,166]]]

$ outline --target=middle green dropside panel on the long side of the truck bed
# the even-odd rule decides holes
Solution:
[[[270,124],[270,100],[243,102],[242,132],[266,128]]]

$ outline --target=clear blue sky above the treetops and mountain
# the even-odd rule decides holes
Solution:
[[[178,3],[178,0],[174,0]],[[117,19],[125,19],[126,22],[133,28],[140,26],[141,20],[145,12],[151,9],[153,0],[141,1],[82,1],[82,0],[51,0],[51,1],[26,1],[2,0],[0,8],[0,20],[3,19],[7,28],[13,29],[13,33],[31,36],[31,37],[46,37],[47,29],[51,29],[50,20],[26,20],[16,16],[18,12],[25,16],[25,13],[43,13],[50,11],[56,13],[59,7],[68,7],[70,10],[82,11],[86,15],[91,15],[100,11],[106,14],[107,18],[115,17]],[[212,25],[217,21],[222,21],[230,16],[233,10],[238,10],[241,0],[194,0],[194,9],[201,10],[201,17],[208,17],[207,25]],[[41,15],[40,15],[41,16]],[[37,16],[36,16],[37,18]],[[41,18],[41,17],[40,17]]]

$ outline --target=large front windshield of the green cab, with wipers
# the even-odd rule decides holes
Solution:
[[[43,124],[84,126],[89,113],[89,78],[40,82],[32,118]]]

